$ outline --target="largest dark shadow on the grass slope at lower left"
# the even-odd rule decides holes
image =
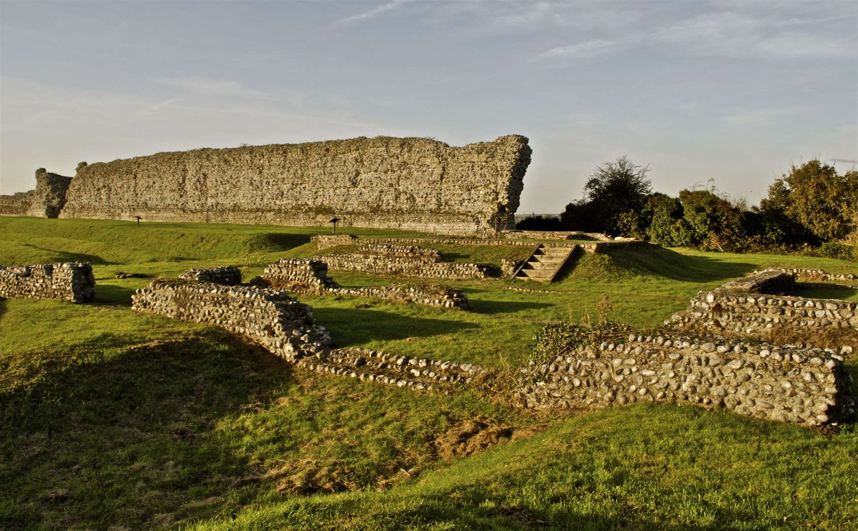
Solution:
[[[0,390],[0,528],[160,527],[189,491],[224,495],[252,471],[217,422],[292,381],[285,361],[221,332],[36,368]]]

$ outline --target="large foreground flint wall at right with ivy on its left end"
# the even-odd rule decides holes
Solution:
[[[522,369],[521,378],[514,403],[535,409],[692,403],[820,426],[848,421],[856,408],[842,355],[705,337],[632,334]]]

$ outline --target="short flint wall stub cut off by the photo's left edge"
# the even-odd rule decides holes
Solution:
[[[0,266],[0,298],[90,302],[95,298],[93,267],[83,262]]]

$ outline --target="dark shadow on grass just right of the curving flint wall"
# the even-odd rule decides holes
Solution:
[[[327,328],[342,347],[372,340],[451,334],[477,325],[455,320],[409,317],[372,308],[314,308],[317,323]]]

